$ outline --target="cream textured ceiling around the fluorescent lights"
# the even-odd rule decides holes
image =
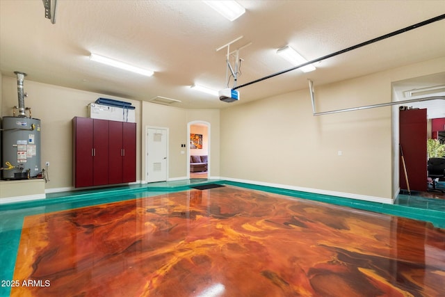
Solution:
[[[40,0],[0,0],[0,71],[27,80],[129,99],[156,96],[173,105],[230,106],[189,86],[226,86],[225,55],[240,50],[238,85],[286,70],[275,54],[291,45],[309,61],[445,13],[445,1],[238,1],[246,13],[234,22],[202,1],[58,0],[56,23]],[[375,42],[316,64],[238,89],[242,104],[445,54],[445,20]],[[141,77],[89,61],[90,52],[155,71]],[[232,87],[233,80],[229,87]]]

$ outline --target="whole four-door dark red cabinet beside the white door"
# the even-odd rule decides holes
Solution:
[[[73,119],[74,186],[136,181],[136,123]]]

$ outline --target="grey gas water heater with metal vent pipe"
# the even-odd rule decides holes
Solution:
[[[14,106],[13,116],[3,117],[2,130],[2,166],[3,179],[28,179],[38,177],[42,172],[40,163],[40,120],[31,118],[31,109],[25,108],[23,81],[26,74],[14,72],[17,75],[17,106]],[[29,117],[25,111],[29,111]]]

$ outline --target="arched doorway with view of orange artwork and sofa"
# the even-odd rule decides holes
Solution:
[[[187,177],[208,179],[211,175],[210,123],[200,120],[187,125]]]

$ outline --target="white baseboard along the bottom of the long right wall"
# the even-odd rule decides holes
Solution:
[[[287,184],[273,184],[273,183],[269,183],[269,182],[257,182],[257,181],[252,181],[252,180],[248,180],[248,179],[234,179],[231,177],[221,177],[220,179],[227,180],[230,182],[239,182],[239,183],[243,183],[243,184],[269,186],[272,188],[283,188],[283,189],[291,190],[291,191],[301,191],[301,192],[315,193],[315,194],[321,194],[321,195],[330,195],[330,196],[336,196],[336,197],[341,197],[341,198],[363,200],[363,201],[368,201],[368,202],[394,204],[394,200],[392,200],[391,198],[382,198],[382,197],[360,195],[360,194],[354,194],[354,193],[328,191],[328,190],[322,190],[319,188],[305,188],[305,187],[301,187],[301,186],[291,186],[291,185],[287,185]]]

